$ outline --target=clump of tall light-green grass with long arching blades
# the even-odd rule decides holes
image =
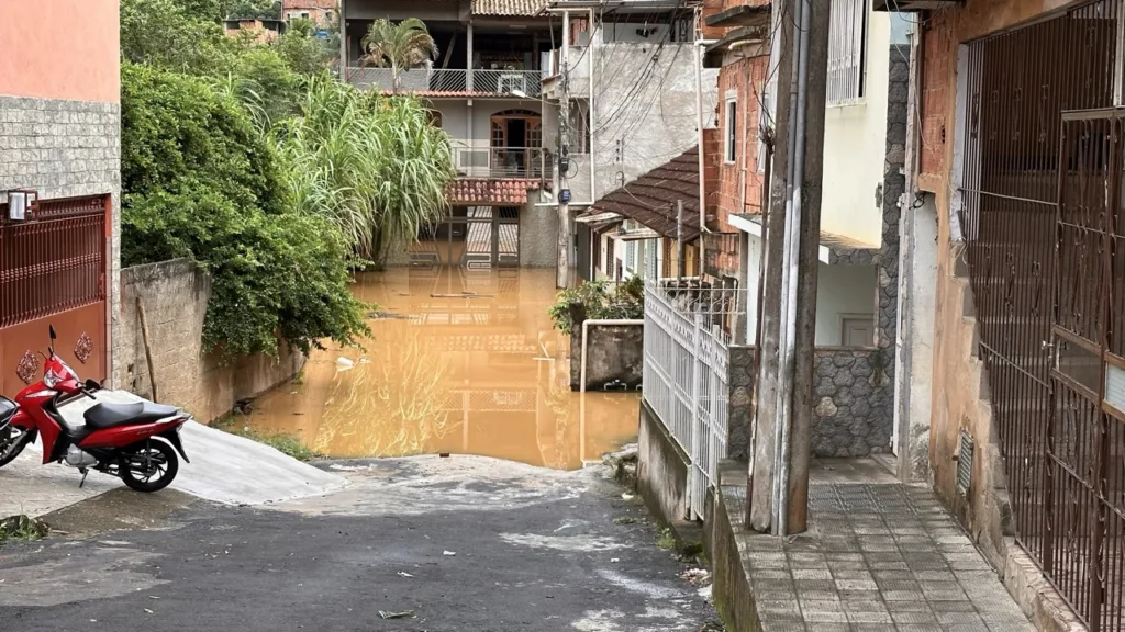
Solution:
[[[389,245],[447,214],[449,139],[414,98],[309,78],[300,115],[273,138],[292,202],[335,223],[363,259],[382,263]]]

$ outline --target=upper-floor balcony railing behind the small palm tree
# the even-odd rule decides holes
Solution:
[[[348,69],[348,81],[361,89],[394,89],[390,69]],[[542,72],[538,70],[465,70],[420,67],[398,73],[398,91],[428,97],[539,98]]]

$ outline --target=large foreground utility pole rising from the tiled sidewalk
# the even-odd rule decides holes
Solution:
[[[774,7],[781,12],[773,29],[780,89],[765,244],[771,272],[746,523],[784,536],[808,523],[830,3],[784,0]]]

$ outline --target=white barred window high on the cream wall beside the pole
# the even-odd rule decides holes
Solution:
[[[832,2],[828,33],[828,105],[844,106],[864,96],[867,0]]]

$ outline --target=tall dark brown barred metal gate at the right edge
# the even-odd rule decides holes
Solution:
[[[1119,16],[969,45],[960,188],[1016,536],[1095,632],[1125,631],[1122,124],[1072,110],[1112,106]]]

